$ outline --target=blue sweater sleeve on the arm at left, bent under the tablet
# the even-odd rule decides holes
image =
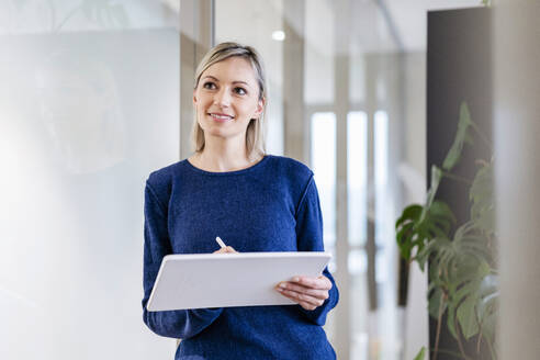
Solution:
[[[149,183],[146,183],[143,320],[157,335],[187,339],[204,330],[204,328],[220,316],[223,308],[162,312],[148,312],[146,310],[146,304],[150,297],[161,260],[166,255],[172,254],[166,214],[167,211],[159,202],[156,192]]]

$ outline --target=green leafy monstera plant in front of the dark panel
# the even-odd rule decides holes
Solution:
[[[408,263],[416,261],[421,271],[429,262],[428,307],[430,316],[437,319],[434,359],[439,352],[443,316],[450,334],[458,341],[461,357],[471,358],[465,353],[463,340],[476,336],[476,352],[484,341],[492,359],[497,358],[494,346],[498,290],[493,157],[476,160],[479,168],[472,181],[452,172],[465,145],[473,145],[475,137],[493,151],[463,102],[454,142],[442,166],[431,167],[426,203],[405,207],[396,222],[402,257]],[[443,179],[470,187],[470,218],[463,224],[458,224],[450,206],[437,199]]]

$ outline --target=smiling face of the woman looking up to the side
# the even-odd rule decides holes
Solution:
[[[251,65],[233,56],[209,67],[193,91],[196,121],[211,137],[244,140],[251,119],[262,113],[259,86]]]

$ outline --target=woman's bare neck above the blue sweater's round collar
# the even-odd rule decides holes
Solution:
[[[241,170],[254,164],[247,155],[244,137],[240,142],[206,138],[204,149],[195,154],[191,160],[199,168],[213,172]]]

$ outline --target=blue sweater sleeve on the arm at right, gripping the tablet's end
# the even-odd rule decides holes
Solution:
[[[296,239],[299,251],[324,251],[323,216],[313,175],[296,210]],[[336,282],[328,268],[325,268],[323,275],[331,282],[331,289],[328,291],[329,296],[324,304],[313,311],[307,311],[296,305],[311,322],[320,326],[325,325],[326,315],[336,306],[339,300]]]

